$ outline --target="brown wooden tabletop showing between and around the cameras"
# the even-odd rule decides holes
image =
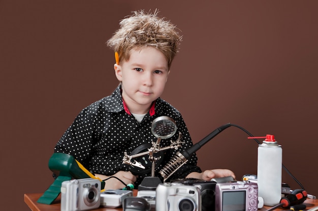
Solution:
[[[43,195],[43,193],[25,193],[24,194],[24,202],[28,205],[28,207],[32,211],[60,211],[60,195],[53,201],[52,204],[42,204],[38,203],[37,200]],[[137,195],[137,190],[134,191],[134,196]],[[306,210],[318,206],[318,199],[307,199],[304,204],[306,204]],[[261,211],[265,211],[269,209],[269,206],[264,206],[263,208],[259,209]],[[118,211],[122,210],[122,207],[119,208],[108,208],[108,207],[100,207],[98,209],[94,209],[96,211]],[[275,209],[279,210],[288,210],[283,208]]]

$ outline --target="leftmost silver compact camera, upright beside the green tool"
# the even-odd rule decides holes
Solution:
[[[62,182],[61,211],[96,209],[101,204],[101,181],[92,178]]]

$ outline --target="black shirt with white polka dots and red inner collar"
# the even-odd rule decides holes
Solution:
[[[178,151],[193,145],[185,122],[177,109],[166,101],[158,98],[154,108],[144,116],[139,123],[124,106],[120,85],[112,93],[84,108],[75,118],[69,129],[63,134],[54,148],[54,152],[73,155],[90,172],[111,176],[118,171],[131,171],[139,175],[135,185],[141,183],[144,177],[151,176],[150,166],[146,170],[132,167],[122,162],[124,152],[130,155],[138,149],[145,149],[146,144],[156,142],[151,133],[151,123],[159,116],[170,116],[177,124],[177,132],[169,139],[162,139],[161,147],[170,146],[171,140],[178,139],[179,132],[184,142],[178,149],[168,149],[160,154],[162,159],[156,162],[155,176]],[[148,147],[149,148],[149,147]],[[146,161],[146,163],[148,163]],[[194,154],[170,179],[185,178],[189,173],[201,172],[197,166],[197,156]]]

